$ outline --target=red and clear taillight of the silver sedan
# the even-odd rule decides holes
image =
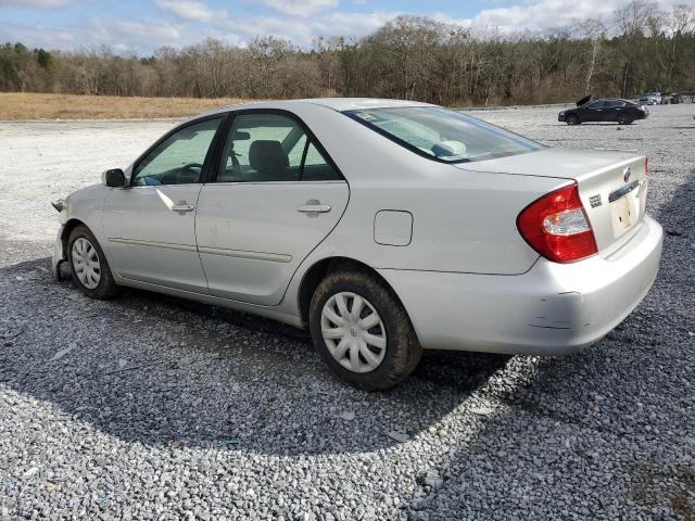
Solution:
[[[598,252],[577,182],[543,195],[517,217],[530,246],[548,260],[572,263]]]

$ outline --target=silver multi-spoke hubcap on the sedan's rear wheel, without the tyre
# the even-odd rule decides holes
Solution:
[[[387,354],[387,330],[369,302],[348,291],[331,296],[321,312],[329,353],[353,372],[374,371]]]

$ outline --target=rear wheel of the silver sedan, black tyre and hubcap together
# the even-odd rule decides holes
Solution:
[[[337,271],[321,281],[312,298],[309,327],[324,361],[365,391],[397,384],[422,354],[397,297],[363,271]]]

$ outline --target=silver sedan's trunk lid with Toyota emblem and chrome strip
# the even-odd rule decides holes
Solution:
[[[645,160],[644,155],[633,152],[543,149],[455,166],[480,173],[577,181],[598,253],[605,257],[629,241],[644,219],[647,194]]]

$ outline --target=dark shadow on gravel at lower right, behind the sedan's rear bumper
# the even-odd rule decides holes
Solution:
[[[655,176],[669,179],[665,171]],[[669,519],[693,518],[693,446],[684,433],[695,432],[685,383],[695,359],[694,194],[691,169],[666,201],[650,206],[670,231],[642,304],[582,353],[513,358],[523,384],[489,390],[493,412],[484,435],[442,458],[432,472],[443,482],[437,488],[421,482],[412,510],[475,519],[482,504],[496,519],[527,519],[530,511],[648,519],[657,509]]]

